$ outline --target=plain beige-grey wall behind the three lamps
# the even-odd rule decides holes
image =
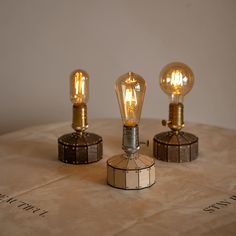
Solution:
[[[185,120],[236,129],[236,1],[0,0],[0,133],[71,120],[69,75],[90,74],[89,119],[119,117],[115,80],[147,81],[142,117],[167,118],[158,76],[194,71]]]

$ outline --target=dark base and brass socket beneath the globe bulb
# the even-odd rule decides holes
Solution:
[[[169,120],[162,121],[171,131],[159,133],[153,138],[153,155],[167,162],[189,162],[198,156],[198,137],[180,131],[184,127],[184,106],[182,103],[170,103]]]

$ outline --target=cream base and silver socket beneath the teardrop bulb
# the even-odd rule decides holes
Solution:
[[[115,188],[139,190],[155,183],[155,161],[139,154],[138,126],[123,128],[122,148],[125,154],[107,161],[107,183]]]

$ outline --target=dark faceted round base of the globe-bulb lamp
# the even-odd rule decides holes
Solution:
[[[167,162],[193,161],[198,156],[198,137],[187,132],[157,134],[153,138],[153,155]]]

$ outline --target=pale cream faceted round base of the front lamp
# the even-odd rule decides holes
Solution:
[[[155,183],[155,161],[144,155],[132,159],[125,154],[107,161],[107,183],[120,189],[144,189]]]

